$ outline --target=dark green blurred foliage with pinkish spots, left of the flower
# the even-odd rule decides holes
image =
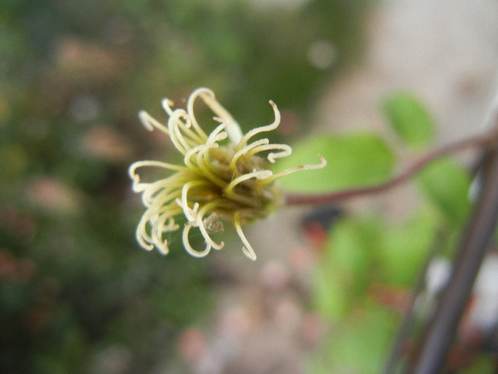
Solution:
[[[206,85],[245,128],[271,118],[268,99],[300,125],[359,56],[367,4],[2,1],[2,373],[168,367],[176,334],[211,306],[213,267],[179,239],[166,258],[134,242],[142,207],[127,165],[172,148],[137,111]],[[328,48],[318,66],[311,46]]]

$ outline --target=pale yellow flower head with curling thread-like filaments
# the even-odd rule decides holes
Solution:
[[[194,115],[198,98],[216,114],[214,120],[219,123],[209,135]],[[269,169],[277,158],[292,151],[289,145],[270,144],[266,138],[253,140],[255,135],[275,130],[280,123],[280,112],[272,101],[275,121],[245,135],[208,88],[194,90],[186,110],[173,110],[173,104],[168,99],[162,101],[169,115],[167,125],[144,111],[139,113],[148,130],[156,128],[169,135],[183,155],[184,165],[161,161],[138,161],[130,165],[132,189],[142,192],[142,202],[147,208],[137,226],[137,241],[144,249],[152,250],[156,246],[161,253],[169,253],[164,234],[179,230],[176,217],[183,215],[186,219],[182,234],[184,247],[192,256],[203,257],[211,249],[223,248],[224,242],[214,241],[211,234],[223,231],[222,220],[225,220],[233,223],[244,244],[244,254],[255,260],[256,254],[243,233],[242,224],[263,219],[278,206],[281,194],[274,183],[277,178],[297,170],[319,169],[327,162],[319,155],[318,165],[300,165],[277,173]],[[155,182],[142,182],[137,172],[142,167],[162,168],[169,173]],[[204,249],[191,246],[194,227],[206,242]]]

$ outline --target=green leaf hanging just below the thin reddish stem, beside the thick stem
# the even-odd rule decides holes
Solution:
[[[425,197],[450,224],[462,224],[470,209],[470,176],[450,159],[441,159],[425,167],[417,178]]]

